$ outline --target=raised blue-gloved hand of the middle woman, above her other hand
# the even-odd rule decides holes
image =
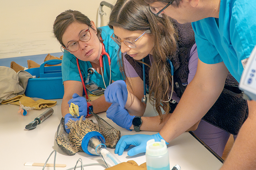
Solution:
[[[104,91],[105,100],[110,103],[118,103],[121,108],[125,108],[128,91],[123,80],[117,80],[110,84]]]

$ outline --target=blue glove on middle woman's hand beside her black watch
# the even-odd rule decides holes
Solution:
[[[118,103],[113,103],[106,111],[107,118],[111,119],[118,126],[129,131],[132,125],[132,120],[135,116],[131,116],[126,109],[121,108]]]

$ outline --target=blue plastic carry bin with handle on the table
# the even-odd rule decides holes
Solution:
[[[62,84],[61,66],[45,67],[45,64],[57,65],[61,60],[48,60],[38,68],[30,68],[25,71],[34,75],[35,78],[28,80],[25,95],[41,99],[62,99],[64,86]]]

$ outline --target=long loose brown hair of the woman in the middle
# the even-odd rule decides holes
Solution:
[[[117,0],[112,9],[109,27],[119,27],[128,31],[149,30],[153,38],[153,61],[149,71],[150,102],[155,106],[162,122],[162,111],[169,113],[168,92],[171,75],[167,57],[176,51],[176,31],[170,17],[156,17],[147,5],[136,3],[135,0]],[[140,61],[139,61],[140,62]],[[127,79],[126,79],[127,81]],[[131,87],[130,83],[128,82]]]

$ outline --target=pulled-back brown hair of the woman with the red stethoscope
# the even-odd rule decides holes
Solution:
[[[62,36],[65,33],[68,26],[73,22],[84,23],[91,27],[90,19],[79,11],[67,10],[65,12],[60,13],[54,21],[53,33],[54,33],[54,36],[59,41],[59,43],[64,47],[65,45],[62,42]],[[99,39],[100,39],[100,34],[101,34],[101,31],[97,29],[97,36]]]

